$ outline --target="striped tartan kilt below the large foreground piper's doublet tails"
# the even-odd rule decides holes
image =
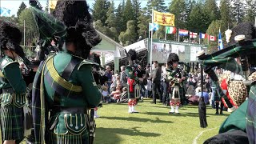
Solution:
[[[85,130],[82,134],[55,134],[53,130],[50,130],[48,135],[48,142],[56,144],[89,144],[89,133]]]

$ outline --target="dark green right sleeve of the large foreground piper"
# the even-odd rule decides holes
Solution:
[[[78,82],[82,86],[82,94],[86,98],[88,107],[93,108],[98,106],[101,100],[101,93],[98,90],[98,86],[94,81],[94,76],[92,74],[91,65],[82,65],[78,70]]]

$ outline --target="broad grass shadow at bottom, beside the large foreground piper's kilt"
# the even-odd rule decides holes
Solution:
[[[95,140],[97,143],[121,143],[122,139],[118,136],[119,134],[141,137],[158,137],[161,135],[150,132],[141,132],[138,128],[139,127],[133,127],[131,129],[98,127],[96,129]]]

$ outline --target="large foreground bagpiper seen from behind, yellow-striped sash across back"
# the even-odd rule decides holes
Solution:
[[[53,39],[58,47],[41,63],[34,79],[35,143],[92,143],[95,127],[89,110],[98,106],[101,94],[92,74],[94,62],[86,58],[101,38],[89,6],[86,1],[58,1],[54,17],[32,9],[42,39]]]

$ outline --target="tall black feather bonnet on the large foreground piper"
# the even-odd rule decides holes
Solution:
[[[88,9],[86,1],[58,1],[53,13],[68,27],[66,42],[74,42],[76,55],[82,58],[88,58],[92,47],[102,40]]]

